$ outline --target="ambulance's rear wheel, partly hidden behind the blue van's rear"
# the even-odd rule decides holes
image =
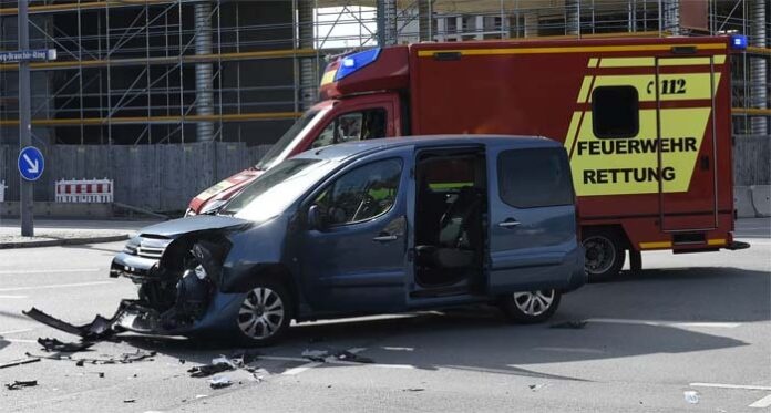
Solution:
[[[585,231],[583,245],[586,254],[584,267],[589,282],[607,281],[621,271],[626,248],[616,233],[588,229]]]

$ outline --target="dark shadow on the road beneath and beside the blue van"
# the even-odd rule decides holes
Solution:
[[[300,358],[305,349],[362,347],[368,349],[366,355],[380,364],[545,378],[548,375],[525,366],[747,345],[720,335],[720,331],[696,331],[676,322],[769,320],[770,287],[769,273],[762,271],[734,268],[645,270],[618,282],[590,285],[565,296],[563,307],[546,324],[507,324],[495,308],[474,306],[384,320],[302,323],[289,331],[284,343],[259,351]],[[552,328],[567,320],[589,321],[580,329]],[[134,337],[125,340],[201,363],[236,350],[226,342],[206,339]],[[271,373],[281,373],[296,365],[279,365]],[[323,365],[336,366],[339,364]]]

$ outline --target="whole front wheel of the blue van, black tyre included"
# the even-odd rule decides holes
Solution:
[[[264,280],[246,293],[236,327],[241,342],[248,345],[270,345],[286,333],[291,322],[292,298],[279,282]]]

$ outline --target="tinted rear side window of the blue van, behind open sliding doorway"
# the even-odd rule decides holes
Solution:
[[[570,166],[562,148],[502,152],[497,174],[501,199],[515,208],[573,204]]]

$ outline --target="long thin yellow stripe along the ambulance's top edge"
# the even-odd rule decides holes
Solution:
[[[504,48],[504,49],[441,49],[420,50],[418,56],[432,58],[434,53],[460,53],[461,55],[496,54],[548,54],[548,53],[602,53],[602,52],[655,52],[671,48],[696,48],[697,50],[724,50],[726,43],[697,44],[639,44],[639,45],[589,45],[589,47],[549,47],[549,48]]]

